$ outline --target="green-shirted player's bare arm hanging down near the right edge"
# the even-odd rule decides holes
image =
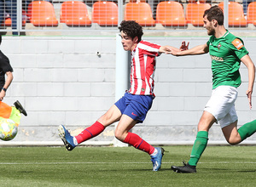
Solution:
[[[247,99],[249,101],[250,109],[252,109],[252,94],[253,94],[253,83],[255,79],[255,65],[253,64],[253,60],[250,58],[248,54],[241,58],[241,62],[247,66],[248,69],[248,89],[247,89]]]

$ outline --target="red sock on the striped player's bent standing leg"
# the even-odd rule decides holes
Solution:
[[[131,144],[138,150],[143,150],[151,155],[154,152],[154,147],[148,142],[144,141],[141,137],[139,137],[136,133],[128,133],[124,143]]]

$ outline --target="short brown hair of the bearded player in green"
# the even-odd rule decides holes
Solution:
[[[219,8],[218,5],[213,6],[205,11],[203,18],[207,15],[207,20],[217,20],[219,26],[224,24],[224,14],[222,8]]]

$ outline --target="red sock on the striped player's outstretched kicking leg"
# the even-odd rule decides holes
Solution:
[[[102,123],[95,122],[90,127],[85,128],[84,131],[82,133],[79,133],[79,135],[77,135],[75,138],[77,139],[78,144],[80,144],[88,139],[99,135],[104,129],[105,127],[102,125]]]

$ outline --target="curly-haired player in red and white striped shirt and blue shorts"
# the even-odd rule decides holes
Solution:
[[[179,49],[143,41],[143,28],[135,21],[122,21],[119,31],[123,48],[125,51],[131,51],[131,88],[103,116],[78,136],[71,136],[62,125],[59,127],[59,134],[67,150],[73,150],[78,144],[102,133],[105,127],[113,122],[119,122],[114,132],[115,137],[138,150],[147,152],[153,162],[153,171],[158,171],[164,150],[148,144],[136,133],[129,131],[137,123],[143,122],[153,103],[156,57],[161,53],[171,54],[172,50]]]

